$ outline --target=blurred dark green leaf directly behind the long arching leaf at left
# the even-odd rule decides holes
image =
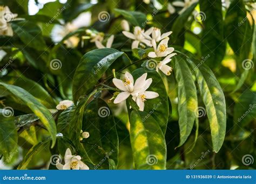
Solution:
[[[42,86],[23,75],[7,76],[1,78],[0,81],[25,89],[35,98],[37,98],[39,102],[45,105],[46,108],[53,109],[56,107],[56,103]]]

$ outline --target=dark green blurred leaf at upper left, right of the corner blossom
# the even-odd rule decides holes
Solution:
[[[15,21],[11,23],[15,35],[22,40],[26,46],[43,51],[46,48],[41,29],[33,22],[28,20]]]

